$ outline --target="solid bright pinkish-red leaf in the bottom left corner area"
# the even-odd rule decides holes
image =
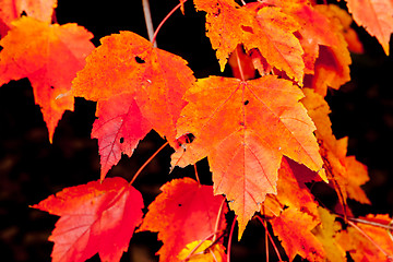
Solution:
[[[120,261],[134,228],[142,222],[142,194],[123,178],[107,178],[63,189],[35,209],[61,216],[49,240],[52,260]]]

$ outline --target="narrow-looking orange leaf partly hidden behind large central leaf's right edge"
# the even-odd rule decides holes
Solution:
[[[330,108],[323,97],[310,88],[303,88],[306,97],[301,103],[308,109],[309,116],[317,126],[315,135],[321,144],[321,155],[329,166],[329,179],[333,181],[334,189],[338,196],[342,196],[343,204],[350,198],[360,203],[371,204],[366,193],[360,188],[369,180],[367,167],[357,162],[354,156],[347,154],[347,138],[336,140],[329,118]]]

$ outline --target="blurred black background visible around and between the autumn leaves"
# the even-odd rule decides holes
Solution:
[[[154,25],[178,4],[178,0],[151,0]],[[132,31],[147,38],[141,1],[99,2],[59,0],[59,24],[78,23],[99,38],[119,31]],[[349,136],[348,154],[369,168],[371,181],[365,190],[372,206],[350,202],[358,215],[389,213],[393,207],[393,61],[378,41],[356,27],[365,55],[354,55],[353,80],[340,91],[330,91],[333,130],[337,138]],[[204,13],[186,3],[186,16],[177,11],[157,37],[158,47],[181,56],[196,78],[222,74],[214,51],[204,35]],[[228,70],[224,72],[227,73]],[[0,88],[0,254],[1,261],[50,261],[52,243],[47,241],[56,216],[29,209],[66,187],[99,178],[97,141],[90,139],[95,103],[78,98],[75,110],[66,111],[49,144],[39,106],[35,105],[28,80],[11,81]],[[108,176],[132,177],[140,166],[164,143],[155,132],[140,143],[134,155],[123,157]],[[193,177],[192,168],[169,170],[167,147],[134,186],[147,206],[158,188],[175,177]],[[211,183],[206,160],[198,166],[203,183]],[[322,192],[332,195],[332,192]],[[334,198],[334,195],[332,196]],[[230,216],[230,215],[229,215]],[[235,237],[236,239],[236,237]],[[154,261],[160,243],[156,234],[139,233],[131,240],[122,261]],[[251,221],[242,240],[233,246],[233,261],[264,261],[264,230]],[[270,252],[274,253],[273,250]],[[92,259],[96,261],[97,255]]]

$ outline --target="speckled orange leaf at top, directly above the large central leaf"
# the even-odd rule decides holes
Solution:
[[[216,49],[222,71],[229,55],[242,44],[246,51],[257,48],[267,63],[301,82],[305,63],[299,40],[293,34],[299,24],[278,8],[261,4],[239,7],[234,0],[194,0],[205,11],[206,36]]]

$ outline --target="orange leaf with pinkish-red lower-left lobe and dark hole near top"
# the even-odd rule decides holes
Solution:
[[[73,95],[97,100],[102,179],[121,153],[131,155],[153,128],[176,146],[182,96],[194,82],[180,57],[154,48],[143,37],[121,32],[104,37],[73,81]],[[121,106],[119,106],[121,105]]]

